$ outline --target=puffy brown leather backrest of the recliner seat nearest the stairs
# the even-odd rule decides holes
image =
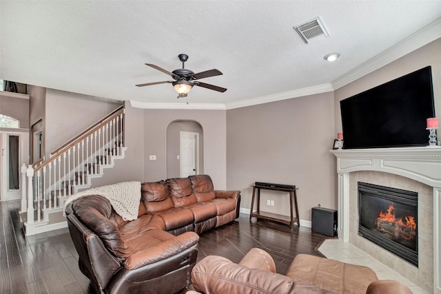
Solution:
[[[81,200],[81,201],[79,201]],[[72,202],[75,215],[92,232],[101,238],[104,246],[119,258],[130,254],[116,222],[110,220],[112,205],[102,196],[83,196]]]

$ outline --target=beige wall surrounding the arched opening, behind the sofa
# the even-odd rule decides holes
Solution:
[[[215,189],[225,189],[227,128],[225,110],[145,109],[144,146],[145,181],[167,178],[167,127],[175,120],[193,120],[203,129],[203,171],[212,177]],[[156,160],[149,160],[156,155]]]

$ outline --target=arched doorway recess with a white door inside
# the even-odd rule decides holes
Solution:
[[[189,174],[203,174],[203,129],[194,120],[174,120],[167,127],[167,178]]]

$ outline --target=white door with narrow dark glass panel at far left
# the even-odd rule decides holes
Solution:
[[[21,199],[21,165],[29,164],[29,132],[0,132],[1,201]]]

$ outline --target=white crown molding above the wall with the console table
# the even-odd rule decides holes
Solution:
[[[269,103],[269,102],[276,102],[296,97],[302,97],[302,96],[308,96],[308,95],[314,95],[314,94],[320,94],[325,92],[331,92],[334,91],[334,88],[330,83],[325,83],[321,85],[315,85],[312,87],[304,87],[301,89],[278,93],[278,94],[272,94],[268,96],[262,96],[258,98],[252,98],[244,101],[237,101],[233,103],[227,103],[226,109],[234,109],[234,108],[240,108],[240,107],[247,107],[252,105],[258,105],[263,103]]]

